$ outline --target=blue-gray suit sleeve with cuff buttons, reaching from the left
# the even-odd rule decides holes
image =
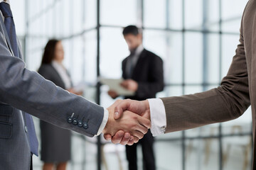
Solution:
[[[12,57],[0,38],[0,101],[25,111],[48,123],[92,137],[102,123],[104,108],[85,98],[70,94],[26,69],[25,63]],[[68,123],[68,117],[87,123],[88,128]]]

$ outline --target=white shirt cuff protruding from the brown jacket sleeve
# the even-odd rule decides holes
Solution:
[[[149,101],[151,133],[153,136],[161,135],[166,129],[166,111],[160,98],[151,98]]]

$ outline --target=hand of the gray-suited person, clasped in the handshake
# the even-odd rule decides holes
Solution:
[[[132,145],[134,142],[142,139],[148,128],[150,128],[151,123],[149,118],[144,118],[131,111],[124,111],[124,114],[122,112],[118,117],[119,119],[114,120],[115,108],[121,102],[116,101],[110,108],[107,108],[110,115],[103,133],[108,134],[105,139],[110,140],[112,138],[113,143]],[[119,140],[120,138],[122,140]]]

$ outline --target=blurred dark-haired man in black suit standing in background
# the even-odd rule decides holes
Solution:
[[[135,92],[134,96],[127,96],[142,101],[155,98],[156,93],[164,89],[163,61],[157,55],[145,50],[142,45],[142,33],[136,26],[127,26],[123,30],[131,54],[122,62],[122,82],[124,88]],[[117,97],[113,90],[109,91],[112,98]],[[144,169],[156,169],[154,151],[154,137],[147,132],[139,144],[142,145]],[[126,146],[129,170],[137,169],[137,144]]]

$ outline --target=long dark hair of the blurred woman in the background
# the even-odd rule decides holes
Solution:
[[[43,58],[42,58],[41,64],[50,64],[50,62],[53,61],[55,47],[59,41],[60,40],[55,40],[55,39],[48,40],[45,50],[43,52]]]

